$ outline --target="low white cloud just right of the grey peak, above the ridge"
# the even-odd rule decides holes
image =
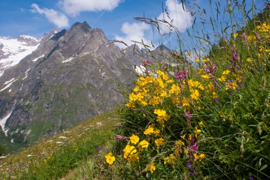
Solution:
[[[115,40],[118,41],[123,41],[124,43],[126,43],[128,46],[134,44],[134,42],[132,41],[137,41],[137,42],[144,42],[144,44],[146,45],[151,45],[151,41],[146,40],[144,38],[144,31],[148,30],[150,28],[149,25],[145,24],[145,23],[128,23],[125,22],[122,25],[121,31],[125,34],[124,37],[120,37],[119,35],[115,36]],[[117,45],[120,48],[125,48],[126,46],[122,43],[115,43],[115,45]],[[143,47],[143,45],[137,44],[140,48]]]

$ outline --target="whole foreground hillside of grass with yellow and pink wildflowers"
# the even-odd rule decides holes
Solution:
[[[231,24],[207,54],[145,61],[122,109],[2,158],[2,178],[269,179],[269,6],[250,17],[243,5],[228,3]]]

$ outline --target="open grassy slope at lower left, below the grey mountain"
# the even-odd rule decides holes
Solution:
[[[118,123],[118,113],[108,112],[2,158],[0,170],[4,173],[0,179],[71,179],[83,166],[90,166],[89,159],[104,158],[101,154],[108,148]]]

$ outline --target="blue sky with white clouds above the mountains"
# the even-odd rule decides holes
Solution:
[[[21,34],[38,37],[53,28],[69,29],[75,22],[86,21],[92,28],[101,28],[109,40],[118,39],[130,44],[130,40],[154,41],[166,44],[176,35],[157,37],[149,25],[133,20],[133,17],[151,17],[162,19],[162,7],[171,13],[180,34],[190,29],[192,21],[201,16],[200,11],[213,11],[215,3],[220,9],[227,6],[226,0],[214,1],[209,6],[208,0],[185,1],[186,10],[180,0],[9,0],[0,1],[0,36],[18,37]],[[189,2],[189,3],[188,3]],[[201,9],[194,9],[195,2]],[[246,0],[250,8],[252,0]],[[257,8],[263,8],[264,0],[254,1]],[[189,11],[190,10],[190,11]],[[190,12],[197,13],[194,16]],[[215,14],[215,12],[213,13]],[[227,16],[226,16],[227,17]],[[165,15],[166,19],[166,15]],[[197,19],[197,22],[198,22]],[[219,19],[222,23],[224,19]],[[207,25],[208,26],[208,25]],[[202,26],[198,25],[198,28]],[[168,32],[166,27],[162,32]],[[206,30],[210,30],[206,27]]]

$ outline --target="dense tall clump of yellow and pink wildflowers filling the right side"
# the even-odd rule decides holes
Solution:
[[[241,7],[228,3],[230,22]],[[269,12],[231,24],[188,65],[194,51],[144,63],[121,111],[121,148],[113,164],[106,156],[119,179],[270,178]]]

